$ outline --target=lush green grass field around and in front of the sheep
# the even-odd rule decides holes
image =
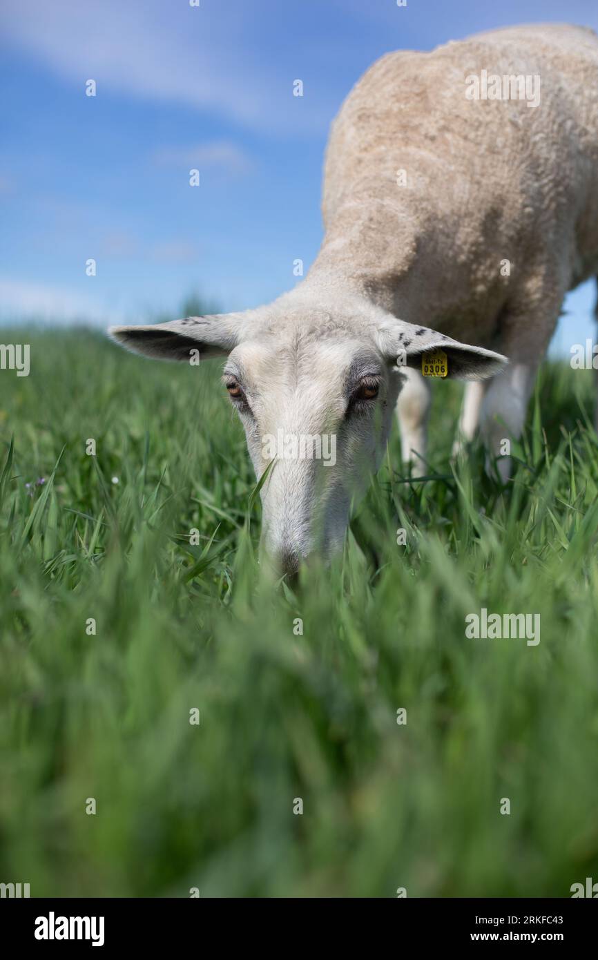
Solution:
[[[433,478],[409,481],[394,432],[344,557],[292,590],[259,576],[217,363],[84,331],[0,339],[31,344],[29,377],[0,372],[0,880],[32,897],[598,880],[591,372],[543,369],[506,490],[478,448],[451,468],[462,388],[439,384]],[[484,607],[539,613],[540,642],[467,639]]]

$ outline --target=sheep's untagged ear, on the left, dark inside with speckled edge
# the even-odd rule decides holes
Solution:
[[[158,360],[189,360],[190,351],[203,357],[224,356],[242,340],[247,323],[243,313],[221,313],[211,317],[187,317],[168,324],[110,326],[108,333],[117,343]]]

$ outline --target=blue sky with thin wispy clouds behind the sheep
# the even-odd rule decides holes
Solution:
[[[222,309],[273,299],[318,251],[328,125],[373,60],[562,20],[597,29],[598,5],[2,0],[0,316],[108,325],[192,291]],[[593,334],[594,297],[569,296],[555,347]]]

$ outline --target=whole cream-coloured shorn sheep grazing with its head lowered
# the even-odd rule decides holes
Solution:
[[[470,381],[456,450],[479,428],[491,459],[520,435],[563,296],[598,274],[598,37],[517,27],[377,60],[331,128],[323,223],[274,302],[110,331],[153,357],[227,356],[256,476],[271,466],[262,540],[287,573],[342,547],[395,407],[403,458],[425,468],[422,373]],[[280,436],[333,436],[334,463],[267,448]]]

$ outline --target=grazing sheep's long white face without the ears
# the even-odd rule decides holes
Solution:
[[[400,374],[372,344],[308,328],[250,340],[227,359],[224,383],[245,428],[261,495],[262,541],[293,572],[343,543],[350,501],[380,463]]]

